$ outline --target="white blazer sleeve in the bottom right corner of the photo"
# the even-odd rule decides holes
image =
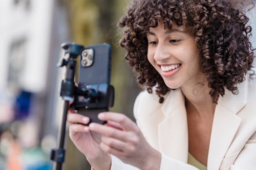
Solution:
[[[229,169],[256,169],[256,132],[246,142],[236,161],[230,167],[225,168],[225,170]]]

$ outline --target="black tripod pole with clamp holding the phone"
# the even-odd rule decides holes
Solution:
[[[50,155],[50,159],[54,161],[53,169],[56,170],[62,169],[62,163],[65,161],[64,142],[69,108],[102,109],[112,107],[114,104],[114,87],[112,85],[102,83],[93,85],[78,84],[78,86],[75,86],[74,77],[77,57],[81,55],[84,46],[75,43],[63,43],[61,47],[65,55],[57,66],[66,67],[66,76],[61,81],[60,89],[60,96],[65,103],[58,131],[57,148],[52,149]],[[73,101],[71,105],[69,104],[70,101]],[[93,118],[90,118],[93,121]]]

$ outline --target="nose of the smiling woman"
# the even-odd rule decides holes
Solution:
[[[154,59],[156,61],[162,61],[170,57],[170,51],[167,46],[162,43],[159,43],[156,47]]]

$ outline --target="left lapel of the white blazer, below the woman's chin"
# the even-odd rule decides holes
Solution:
[[[158,126],[160,152],[187,162],[188,133],[184,96],[180,89],[172,90],[162,106],[163,121]]]

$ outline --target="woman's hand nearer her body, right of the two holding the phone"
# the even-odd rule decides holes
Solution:
[[[89,128],[101,134],[100,147],[124,163],[140,169],[159,169],[161,154],[147,143],[138,126],[121,113],[104,112],[98,115],[106,125],[91,123]]]

